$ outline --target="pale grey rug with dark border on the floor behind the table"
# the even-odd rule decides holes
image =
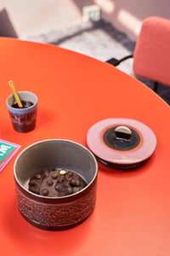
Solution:
[[[51,31],[26,40],[59,45],[65,49],[89,55],[99,61],[107,61],[114,57],[121,59],[133,53],[135,42],[127,38],[124,32],[118,31],[111,23],[105,20],[88,21],[79,26],[70,27],[65,32]],[[132,71],[133,59],[123,61],[117,68],[134,76]],[[139,78],[137,78],[139,79]],[[147,79],[139,79],[151,89],[153,82]],[[170,87],[164,84],[158,85],[157,94],[170,105]]]

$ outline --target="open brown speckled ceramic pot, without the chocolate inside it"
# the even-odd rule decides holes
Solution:
[[[77,172],[88,185],[63,197],[36,195],[28,190],[31,175],[42,168],[65,168]],[[98,166],[94,155],[78,143],[46,140],[23,150],[14,163],[17,203],[26,220],[44,230],[67,230],[81,224],[93,212]]]

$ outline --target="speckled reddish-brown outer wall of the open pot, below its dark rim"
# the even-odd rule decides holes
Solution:
[[[26,220],[43,230],[67,230],[81,224],[93,212],[96,201],[96,180],[82,195],[75,196],[75,200],[68,202],[54,201],[47,203],[33,200],[23,193],[16,184],[16,195],[21,215]],[[49,201],[50,202],[50,201]]]

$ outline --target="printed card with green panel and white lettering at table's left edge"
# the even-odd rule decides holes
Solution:
[[[0,139],[0,172],[20,149],[20,145]]]

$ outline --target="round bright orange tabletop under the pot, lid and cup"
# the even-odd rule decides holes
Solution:
[[[99,166],[96,207],[71,230],[46,231],[28,224],[16,204],[13,166],[0,173],[2,255],[170,254],[170,109],[138,80],[116,67],[48,44],[0,38],[0,137],[22,145],[48,138],[86,144],[88,129],[107,118],[137,119],[156,134],[155,153],[135,171]],[[38,96],[37,127],[14,131],[6,108],[17,90]]]

